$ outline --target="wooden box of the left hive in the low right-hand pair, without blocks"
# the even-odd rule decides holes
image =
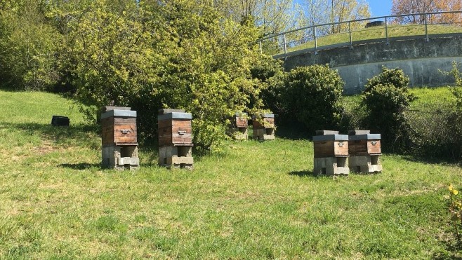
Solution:
[[[315,158],[348,156],[348,135],[315,135]]]

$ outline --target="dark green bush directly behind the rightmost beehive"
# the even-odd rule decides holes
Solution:
[[[414,95],[408,90],[409,78],[401,69],[382,68],[382,73],[369,79],[362,94],[367,109],[367,127],[381,133],[385,148],[403,150],[409,146],[409,125],[404,110]]]

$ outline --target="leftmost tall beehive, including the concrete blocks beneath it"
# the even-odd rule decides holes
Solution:
[[[103,108],[101,114],[103,167],[136,170],[140,165],[136,111],[130,109],[130,107]]]

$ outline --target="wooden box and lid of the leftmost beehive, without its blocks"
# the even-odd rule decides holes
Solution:
[[[103,146],[138,145],[136,111],[113,109],[101,114]]]

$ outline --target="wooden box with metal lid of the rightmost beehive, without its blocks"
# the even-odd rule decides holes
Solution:
[[[348,137],[350,156],[381,154],[380,139],[380,134],[350,135]]]

